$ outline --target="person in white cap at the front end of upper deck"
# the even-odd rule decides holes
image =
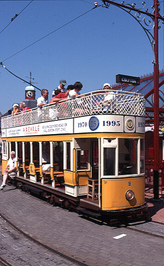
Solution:
[[[103,90],[105,90],[106,95],[104,95],[104,99],[98,102],[98,105],[104,104],[103,111],[108,111],[110,109],[110,103],[116,98],[115,93],[111,90],[112,87],[109,83],[105,83],[103,85]]]

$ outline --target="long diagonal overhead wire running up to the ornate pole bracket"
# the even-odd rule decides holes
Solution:
[[[101,7],[101,6],[98,6],[98,7]],[[71,22],[75,21],[76,19],[78,19],[78,18],[80,18],[80,17],[86,15],[87,13],[89,13],[90,11],[92,11],[92,10],[94,10],[94,9],[96,9],[96,8],[97,8],[97,7],[94,7],[94,8],[92,8],[92,9],[90,9],[89,11],[87,11],[87,12],[81,14],[80,16],[76,17],[75,19],[73,19],[73,20],[71,20],[71,21],[65,23],[64,25],[62,25],[62,26],[60,26],[59,28],[55,29],[54,31],[48,33],[48,34],[45,35],[44,37],[38,39],[37,41],[35,41],[35,42],[31,43],[30,45],[26,46],[25,48],[21,49],[20,51],[14,53],[13,55],[9,56],[8,58],[2,60],[2,62],[4,62],[4,61],[10,59],[11,57],[15,56],[15,55],[18,54],[18,53],[24,51],[25,49],[29,48],[29,47],[32,46],[33,44],[35,44],[35,43],[37,43],[37,42],[43,40],[43,39],[46,38],[47,36],[51,35],[52,33],[56,32],[56,31],[58,31],[58,30],[60,30],[61,28],[63,28],[63,27],[65,27],[66,25],[68,25],[69,23],[71,23]]]

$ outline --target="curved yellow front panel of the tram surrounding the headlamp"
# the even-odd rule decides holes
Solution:
[[[131,185],[128,184],[131,182]],[[134,198],[126,200],[125,193],[133,190]],[[144,204],[144,176],[102,179],[102,210],[119,210]]]

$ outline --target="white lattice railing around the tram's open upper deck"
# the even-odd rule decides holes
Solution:
[[[108,93],[113,92],[109,90]],[[45,105],[17,115],[2,118],[2,129],[96,114],[145,116],[145,99],[135,92],[114,91],[112,101],[106,101],[107,93],[94,91],[74,100],[61,100],[58,104]]]

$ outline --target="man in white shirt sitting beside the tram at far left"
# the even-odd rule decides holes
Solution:
[[[15,179],[17,176],[17,162],[15,157],[15,152],[11,152],[11,158],[9,159],[7,166],[4,170],[4,176],[3,176],[3,183],[0,187],[0,189],[3,189],[6,186],[6,182],[8,180],[8,177],[11,177],[11,179]]]

